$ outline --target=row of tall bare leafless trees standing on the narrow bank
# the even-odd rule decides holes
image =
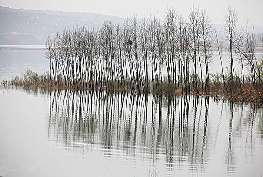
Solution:
[[[230,46],[228,87],[232,93],[234,52],[240,54],[241,62],[250,63],[253,82],[262,81],[254,54],[254,34],[246,28],[246,35],[236,37],[237,13],[231,7],[228,10],[225,31]],[[188,18],[170,8],[163,21],[158,15],[139,21],[134,16],[122,25],[104,22],[96,30],[84,25],[66,28],[46,41],[50,84],[72,89],[149,92],[166,82],[182,93],[209,94],[213,43],[221,60],[218,38],[205,10],[193,6]],[[222,60],[221,67],[228,91]]]

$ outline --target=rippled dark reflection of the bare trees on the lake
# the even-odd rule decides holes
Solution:
[[[228,144],[225,165],[232,174],[234,146],[243,142],[247,158],[253,159],[254,134],[262,137],[260,105],[204,96],[89,91],[53,91],[49,97],[48,137],[79,155],[97,149],[109,158],[123,155],[132,161],[148,160],[152,166],[164,159],[168,170],[188,164],[192,174],[200,174],[223,143]],[[224,122],[228,140],[222,142]]]

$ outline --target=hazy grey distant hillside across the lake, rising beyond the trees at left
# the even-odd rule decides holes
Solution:
[[[95,13],[38,11],[0,6],[0,44],[42,45],[48,35],[62,32],[66,26],[85,24],[98,27],[104,21],[113,23],[123,18]]]

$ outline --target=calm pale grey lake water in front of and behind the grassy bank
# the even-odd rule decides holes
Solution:
[[[49,67],[43,50],[0,57],[0,80]],[[261,177],[263,106],[0,87],[0,176]]]

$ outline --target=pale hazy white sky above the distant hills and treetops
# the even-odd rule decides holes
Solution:
[[[162,18],[168,7],[174,7],[179,14],[187,16],[190,7],[195,3],[200,8],[206,9],[213,24],[222,24],[223,15],[227,5],[235,6],[240,17],[240,24],[250,18],[250,25],[263,26],[263,0],[0,0],[1,6],[13,8],[39,10],[62,10],[70,12],[93,12],[119,17],[132,17],[134,13],[138,18],[149,17],[156,14]]]

